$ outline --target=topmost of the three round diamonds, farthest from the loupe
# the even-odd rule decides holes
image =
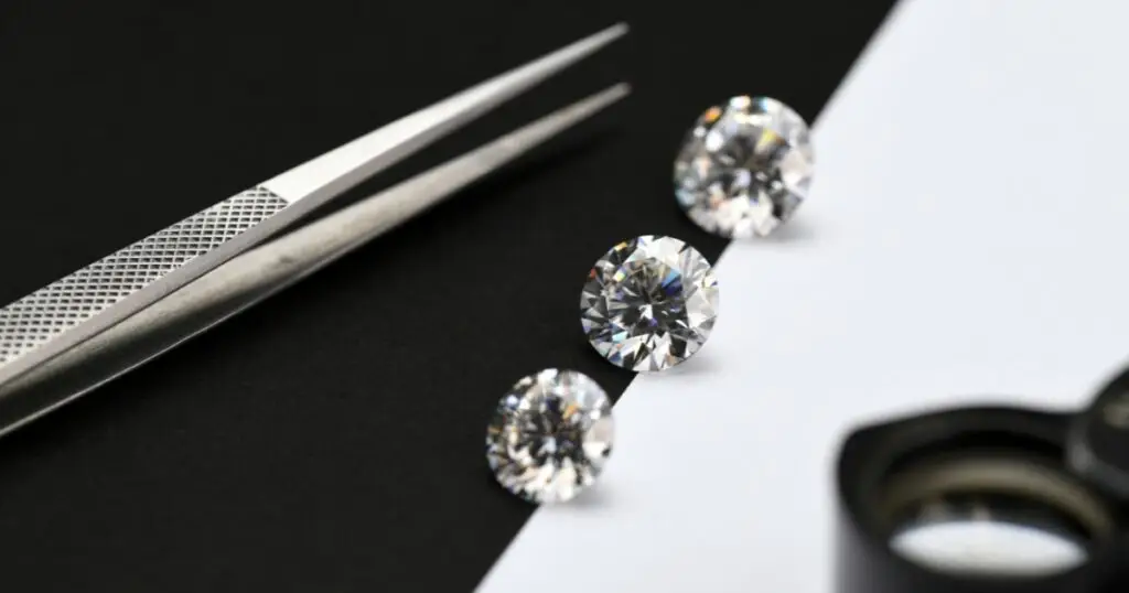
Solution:
[[[674,162],[674,193],[698,226],[765,236],[807,198],[814,169],[804,120],[779,101],[733,97],[699,117]]]

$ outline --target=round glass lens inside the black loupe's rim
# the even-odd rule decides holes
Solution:
[[[990,452],[922,460],[884,483],[890,547],[949,574],[1034,577],[1084,564],[1113,520],[1065,470]]]

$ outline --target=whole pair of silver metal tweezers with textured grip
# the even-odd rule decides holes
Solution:
[[[619,101],[629,91],[624,84],[296,224],[624,33],[627,26],[616,25],[463,90],[0,308],[0,434],[259,303]]]

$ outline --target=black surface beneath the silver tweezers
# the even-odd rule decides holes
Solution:
[[[472,590],[533,511],[485,468],[497,399],[551,366],[631,381],[579,330],[593,261],[639,234],[716,258],[672,195],[685,131],[736,94],[814,120],[889,5],[3,0],[2,303],[619,20],[627,38],[349,198],[619,80],[634,93],[0,439],[0,587]]]

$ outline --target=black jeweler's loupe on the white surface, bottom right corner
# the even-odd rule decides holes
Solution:
[[[839,593],[1129,591],[1129,370],[1089,408],[961,408],[856,430]]]

